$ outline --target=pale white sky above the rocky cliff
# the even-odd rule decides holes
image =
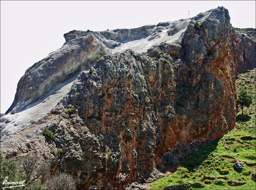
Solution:
[[[255,28],[256,1],[1,1],[1,113],[12,104],[19,79],[60,48],[64,33],[135,28],[196,16],[218,6],[231,24]],[[188,16],[188,12],[190,15]]]

